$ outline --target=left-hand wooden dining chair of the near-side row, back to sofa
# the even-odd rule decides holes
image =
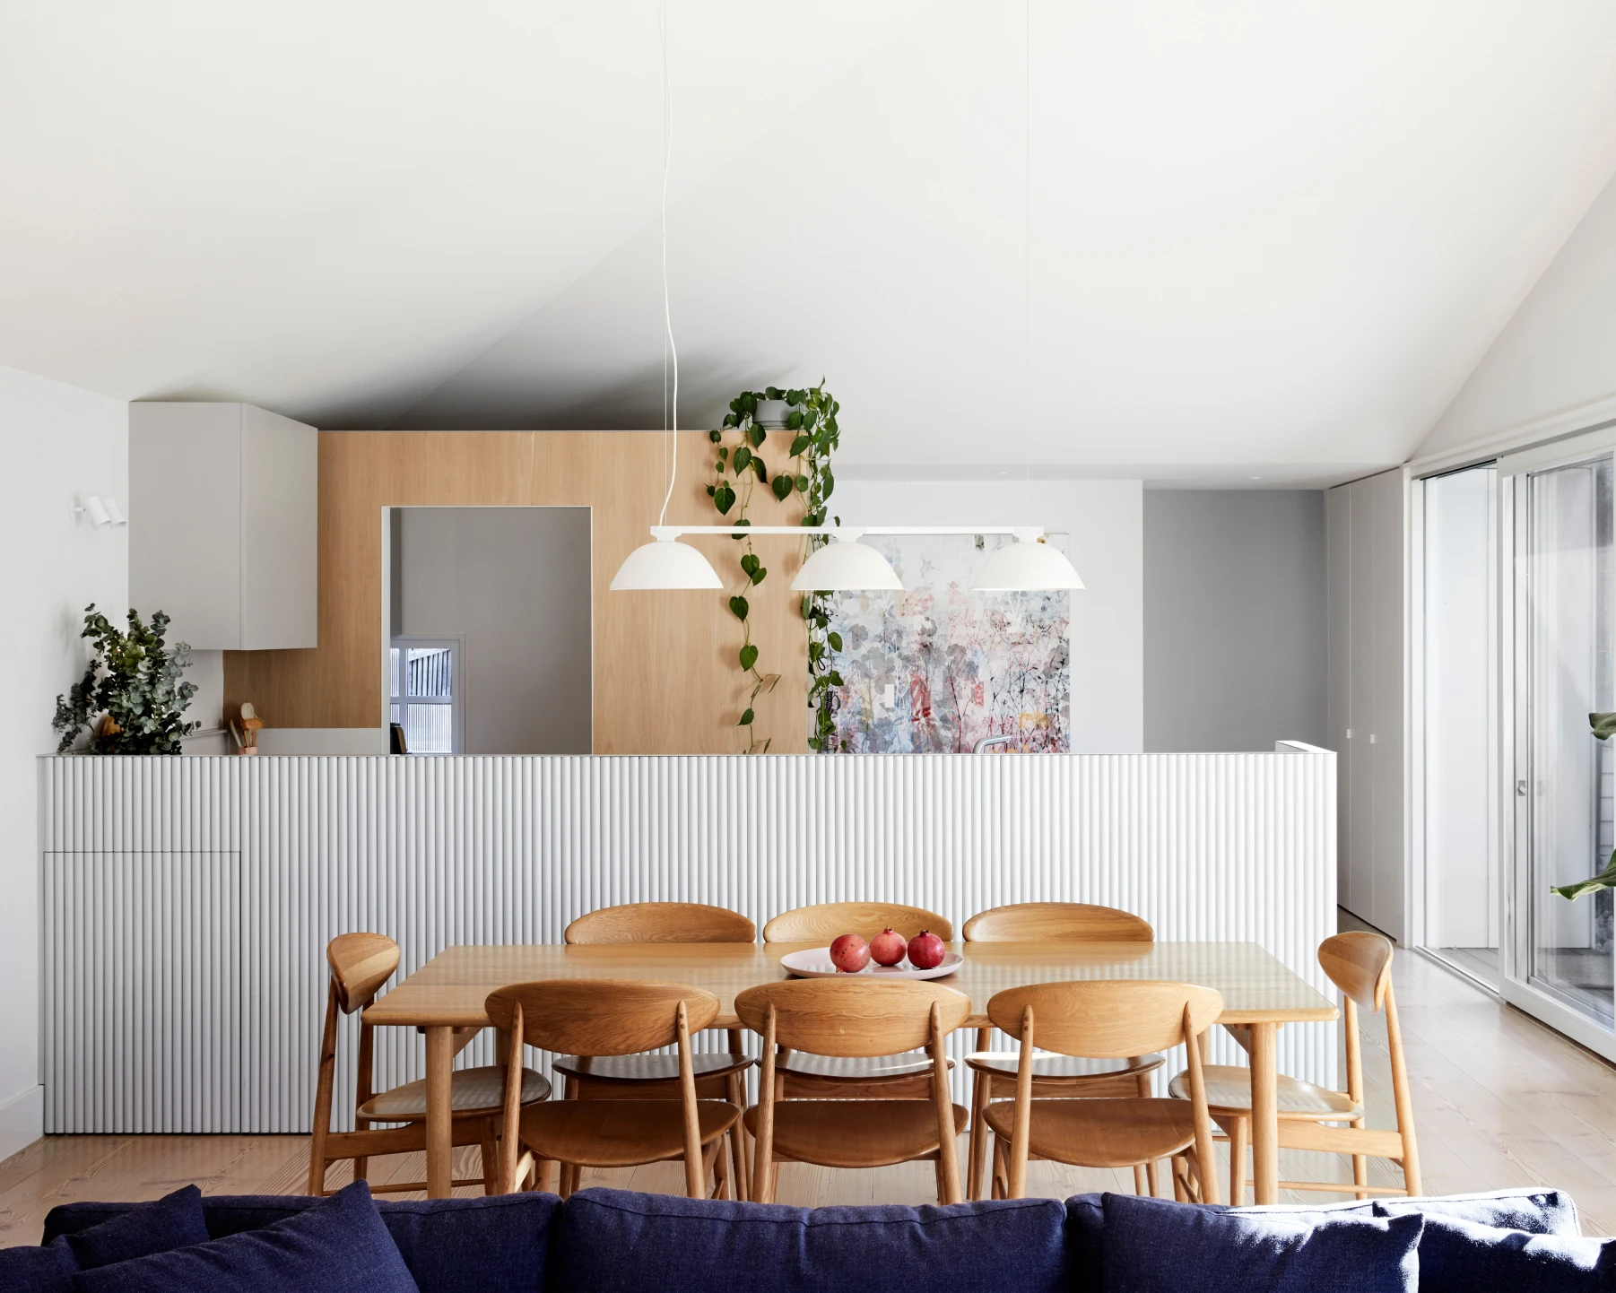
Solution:
[[[735,1175],[719,1167],[724,1135],[740,1118],[727,1101],[696,1097],[690,1034],[718,1017],[703,988],[630,979],[543,979],[488,994],[488,1018],[507,1034],[507,1067],[524,1046],[570,1055],[633,1055],[679,1047],[679,1099],[570,1099],[524,1106],[507,1081],[501,1112],[499,1188],[511,1193],[530,1164],[562,1165],[561,1194],[577,1190],[585,1167],[638,1167],[684,1159],[685,1193],[709,1198],[708,1178],[730,1198]],[[511,1070],[514,1072],[514,1070]]]

